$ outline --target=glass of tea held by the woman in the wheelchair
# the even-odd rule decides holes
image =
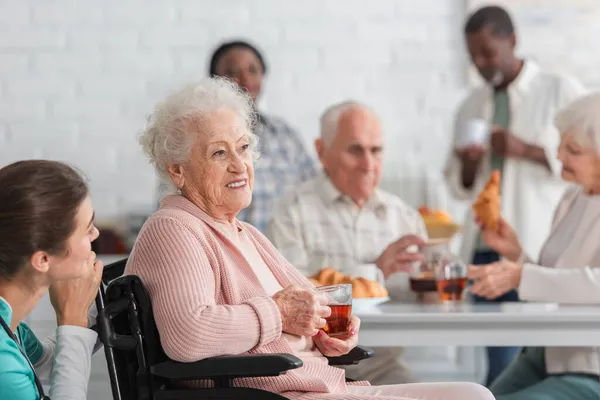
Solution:
[[[327,305],[331,308],[331,315],[325,320],[327,324],[323,331],[331,337],[348,336],[350,315],[352,315],[352,285],[339,284],[320,286],[317,292],[327,294]]]

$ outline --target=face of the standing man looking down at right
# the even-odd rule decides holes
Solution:
[[[471,61],[479,74],[490,85],[501,85],[512,73],[515,36],[501,37],[492,33],[492,27],[485,27],[466,37]]]

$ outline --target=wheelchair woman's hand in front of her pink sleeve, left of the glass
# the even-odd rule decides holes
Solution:
[[[331,315],[327,295],[305,286],[288,286],[273,295],[281,314],[283,332],[314,336]]]

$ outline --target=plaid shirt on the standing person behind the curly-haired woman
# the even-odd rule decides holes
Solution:
[[[237,217],[264,232],[275,201],[316,171],[298,134],[282,120],[260,114],[255,133],[260,158],[254,164],[252,203]]]

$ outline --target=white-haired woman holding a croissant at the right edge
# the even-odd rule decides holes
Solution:
[[[515,231],[500,221],[484,240],[505,260],[471,268],[472,292],[495,298],[519,289],[525,301],[600,303],[600,93],[585,96],[556,116],[562,177],[573,182],[554,215],[537,263]],[[573,343],[576,344],[576,343]],[[598,348],[525,348],[491,385],[502,400],[599,399]]]

